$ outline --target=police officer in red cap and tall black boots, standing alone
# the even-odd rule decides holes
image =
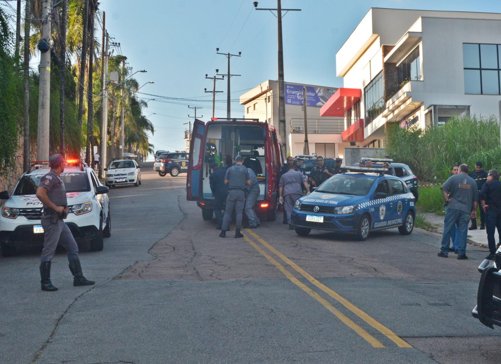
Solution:
[[[60,178],[64,171],[65,160],[61,154],[49,158],[49,173],[42,176],[37,188],[37,198],[43,203],[42,226],[44,228],[44,249],[40,263],[40,276],[43,291],[57,291],[51,282],[51,260],[58,242],[66,249],[74,286],[88,286],[95,282],[87,280],[78,259],[78,246],[75,238],[63,219],[70,212],[66,201],[66,189]]]

